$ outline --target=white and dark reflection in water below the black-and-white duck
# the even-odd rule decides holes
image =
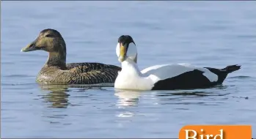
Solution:
[[[227,99],[228,86],[215,86],[208,89],[187,89],[172,91],[127,91],[115,90],[119,108],[137,106],[139,99],[152,105],[219,105]],[[221,90],[221,91],[220,91]],[[146,97],[146,98],[145,98]],[[148,98],[150,97],[150,98]]]

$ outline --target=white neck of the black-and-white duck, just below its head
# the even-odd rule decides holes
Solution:
[[[132,75],[142,76],[142,72],[139,71],[139,67],[137,66],[136,62],[132,59],[126,59],[125,61],[122,61],[121,72],[128,72]]]

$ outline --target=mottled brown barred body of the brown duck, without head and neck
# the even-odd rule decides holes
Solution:
[[[100,63],[70,63],[65,68],[45,66],[37,75],[37,82],[56,84],[114,83],[120,70],[120,67]]]

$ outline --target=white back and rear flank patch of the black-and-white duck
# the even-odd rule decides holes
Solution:
[[[144,76],[148,76],[154,83],[158,80],[164,80],[167,78],[173,78],[175,76],[181,75],[184,72],[190,72],[193,70],[200,70],[211,82],[217,81],[218,76],[215,75],[208,69],[194,67],[191,64],[161,64],[153,67],[148,67],[145,70],[142,70]]]

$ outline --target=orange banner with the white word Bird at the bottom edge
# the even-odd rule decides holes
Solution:
[[[179,139],[252,139],[250,125],[187,125]]]

